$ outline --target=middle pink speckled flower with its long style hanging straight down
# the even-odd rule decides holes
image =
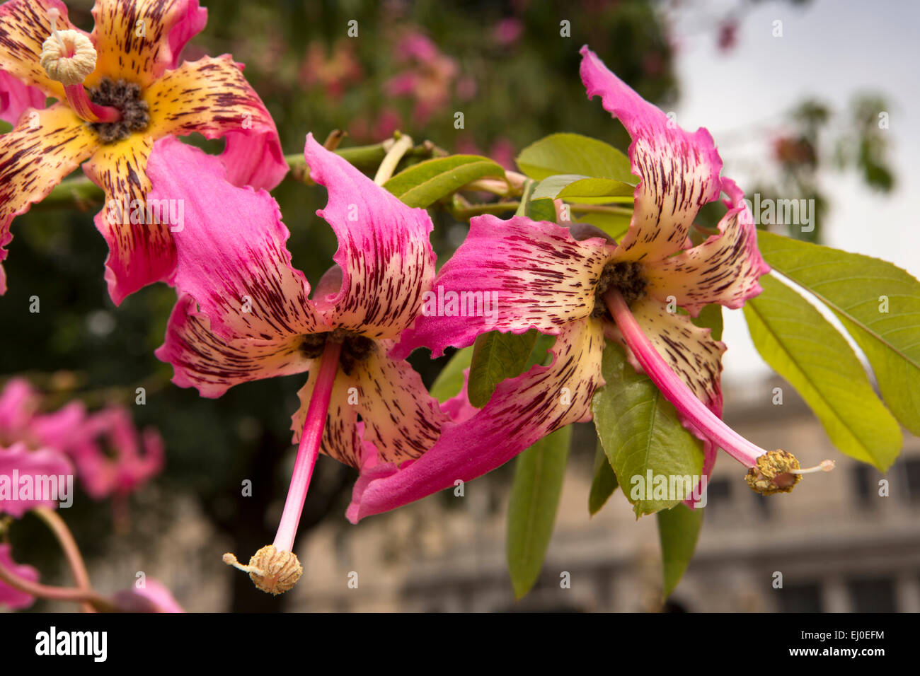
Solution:
[[[358,467],[373,448],[382,463],[407,464],[431,447],[447,419],[408,362],[388,356],[431,288],[431,218],[308,135],[310,178],[328,190],[317,214],[339,239],[337,266],[311,298],[270,195],[236,189],[213,157],[174,144],[169,166],[161,159],[150,166],[153,195],[189,204],[177,234],[182,295],[156,356],[172,363],[174,383],[208,397],[309,371],[293,415],[297,457],[274,542],[247,566],[224,556],[259,589],[278,594],[303,572],[293,542],[317,453]],[[182,176],[195,176],[200,189],[190,190]]]

